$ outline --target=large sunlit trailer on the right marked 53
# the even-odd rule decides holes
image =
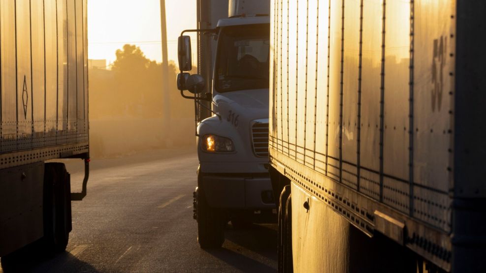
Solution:
[[[484,272],[484,1],[271,10],[279,271]]]

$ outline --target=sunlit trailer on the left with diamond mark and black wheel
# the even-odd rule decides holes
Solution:
[[[63,251],[89,175],[86,0],[0,1],[0,257]],[[59,158],[81,158],[70,192]],[[46,162],[50,160],[49,162]]]

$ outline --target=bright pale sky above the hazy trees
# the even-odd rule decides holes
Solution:
[[[177,37],[196,28],[196,0],[165,0],[168,59],[177,59]],[[115,61],[124,44],[135,44],[151,60],[162,61],[160,0],[88,1],[88,59]],[[195,48],[195,36],[191,43]],[[196,52],[193,50],[193,60]]]

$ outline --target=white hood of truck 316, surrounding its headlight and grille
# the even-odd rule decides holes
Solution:
[[[203,172],[268,172],[265,169],[268,157],[254,153],[251,130],[255,120],[268,120],[268,89],[214,92],[213,111],[221,115],[221,119],[212,116],[201,121],[197,127],[198,136],[215,134],[229,138],[233,141],[234,152],[208,153],[197,149]],[[197,143],[200,147],[199,137]]]

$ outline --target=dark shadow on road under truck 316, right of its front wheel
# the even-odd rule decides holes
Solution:
[[[277,230],[275,225],[252,225],[246,229],[233,229],[231,225],[225,232],[223,248],[206,250],[209,254],[243,272],[275,272],[277,262]],[[257,261],[256,256],[264,257],[268,264]],[[261,258],[259,259],[261,260]]]

